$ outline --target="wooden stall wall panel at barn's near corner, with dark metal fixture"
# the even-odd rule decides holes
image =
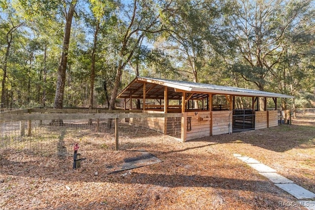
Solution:
[[[197,113],[197,114],[195,114]],[[191,130],[187,131],[187,118],[191,117]],[[185,131],[185,140],[193,140],[203,137],[211,136],[211,112],[185,112],[184,113],[184,123],[182,122],[182,129]]]

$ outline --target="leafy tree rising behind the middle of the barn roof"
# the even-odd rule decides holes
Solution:
[[[225,2],[215,0],[176,1],[175,15],[163,19],[165,30],[160,49],[180,64],[178,71],[198,82],[198,73],[213,54],[222,52],[224,33],[218,33]]]

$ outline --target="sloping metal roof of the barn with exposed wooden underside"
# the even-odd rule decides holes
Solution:
[[[131,97],[133,99],[142,99],[144,95],[144,84],[146,99],[164,99],[165,87],[167,87],[168,99],[170,100],[181,99],[183,92],[192,93],[190,99],[203,99],[208,97],[208,94],[245,97],[294,98],[293,96],[266,91],[150,77],[136,77],[118,94],[117,98],[128,99]]]

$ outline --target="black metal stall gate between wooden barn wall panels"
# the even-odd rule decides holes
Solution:
[[[233,133],[255,130],[255,110],[234,109],[232,129]]]

